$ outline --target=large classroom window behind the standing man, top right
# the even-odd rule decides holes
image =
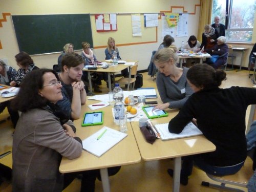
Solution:
[[[256,0],[214,0],[212,6],[212,23],[216,15],[226,26],[228,41],[251,42]]]

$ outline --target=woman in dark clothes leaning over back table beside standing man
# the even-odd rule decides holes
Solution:
[[[216,31],[211,25],[204,26],[204,32],[202,34],[202,44],[200,50],[211,49],[216,45],[217,38],[219,37],[218,31]]]

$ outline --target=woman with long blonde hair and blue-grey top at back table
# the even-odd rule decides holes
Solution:
[[[108,47],[106,47],[105,49],[105,55],[106,55],[105,59],[114,59],[114,56],[113,56],[114,51],[116,51],[117,53],[117,58],[121,60],[118,48],[116,47],[115,39],[113,37],[109,37]],[[121,73],[124,77],[129,77],[129,71],[127,68],[122,70]]]

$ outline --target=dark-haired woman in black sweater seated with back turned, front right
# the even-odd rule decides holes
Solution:
[[[193,160],[204,172],[224,176],[237,173],[246,159],[245,113],[256,104],[256,89],[231,87],[220,89],[226,79],[223,70],[198,64],[187,72],[187,82],[194,90],[178,115],[170,120],[170,133],[179,134],[184,126],[196,119],[203,135],[216,146],[216,151],[183,157],[181,180],[184,185],[193,169]],[[170,176],[173,170],[168,169]]]

